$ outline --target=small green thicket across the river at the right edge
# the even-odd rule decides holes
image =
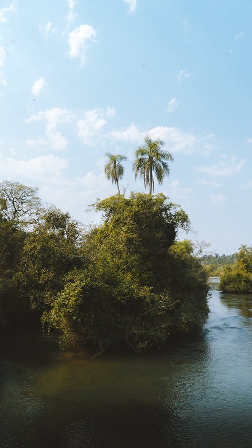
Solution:
[[[224,292],[252,293],[252,247],[241,246],[235,264],[225,267],[220,289]]]

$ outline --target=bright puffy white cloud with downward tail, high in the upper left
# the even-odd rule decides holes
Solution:
[[[86,59],[87,41],[96,37],[96,30],[91,25],[80,25],[68,35],[69,56],[80,57],[82,65]]]

